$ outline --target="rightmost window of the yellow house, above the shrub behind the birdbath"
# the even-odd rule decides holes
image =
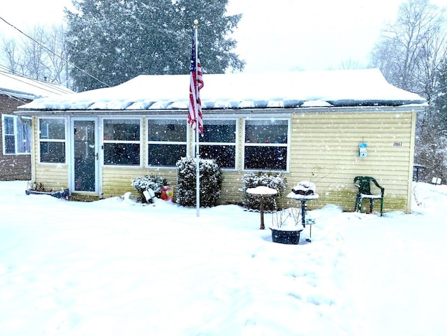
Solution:
[[[246,120],[244,168],[287,170],[288,120]]]

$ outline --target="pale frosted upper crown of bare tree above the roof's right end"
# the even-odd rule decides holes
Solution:
[[[402,3],[397,20],[383,29],[372,66],[393,85],[430,101],[439,64],[446,56],[446,10],[429,0]]]

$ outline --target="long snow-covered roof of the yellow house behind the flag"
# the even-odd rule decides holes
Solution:
[[[424,98],[390,85],[379,69],[203,75],[203,109],[398,106]],[[115,87],[40,98],[30,110],[187,109],[189,75],[139,75]]]

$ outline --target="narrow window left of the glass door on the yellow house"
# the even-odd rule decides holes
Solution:
[[[65,119],[39,119],[39,152],[42,163],[65,163]]]

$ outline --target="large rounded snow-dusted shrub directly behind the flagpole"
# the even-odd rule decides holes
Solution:
[[[177,161],[177,203],[196,206],[196,158],[184,157]],[[217,205],[221,197],[222,172],[214,160],[200,159],[200,206]]]

